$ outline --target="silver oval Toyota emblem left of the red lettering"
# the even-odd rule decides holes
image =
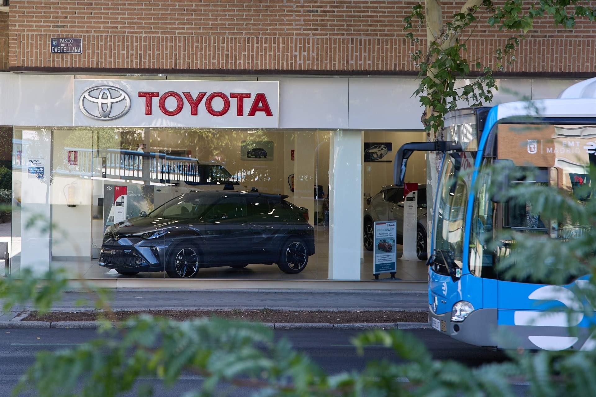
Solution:
[[[79,108],[95,120],[114,120],[131,110],[131,98],[118,87],[96,86],[81,94]]]

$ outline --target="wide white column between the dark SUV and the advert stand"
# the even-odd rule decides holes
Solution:
[[[329,279],[360,280],[362,133],[334,132],[329,169]]]

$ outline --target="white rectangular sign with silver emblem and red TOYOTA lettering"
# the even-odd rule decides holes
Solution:
[[[278,82],[75,79],[74,90],[74,126],[278,128]]]

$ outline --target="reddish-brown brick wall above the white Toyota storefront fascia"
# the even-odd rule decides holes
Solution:
[[[402,28],[416,2],[12,0],[10,67],[413,73],[408,57],[417,48]],[[464,0],[443,3],[458,11]],[[51,54],[52,36],[82,37],[83,54]],[[483,57],[507,37],[475,30],[469,57]],[[596,26],[589,21],[573,31],[541,21],[528,37],[507,71],[595,70]]]

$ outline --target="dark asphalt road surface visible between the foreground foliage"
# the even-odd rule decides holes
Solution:
[[[0,332],[0,396],[10,395],[20,375],[35,360],[36,352],[67,348],[96,335],[95,330],[89,329],[3,329]],[[457,360],[471,366],[506,360],[501,352],[466,345],[434,330],[407,332],[422,340],[435,358]],[[398,361],[392,351],[380,346],[367,348],[364,357],[359,357],[350,345],[350,337],[357,333],[359,331],[355,330],[276,330],[275,336],[290,339],[296,349],[308,354],[328,373],[360,370],[369,360]],[[153,383],[156,396],[179,396],[194,389],[200,377],[185,376],[172,388],[164,387],[158,379],[140,382]],[[137,393],[133,391],[129,395],[136,396]],[[250,395],[250,390],[236,389],[229,395]]]

